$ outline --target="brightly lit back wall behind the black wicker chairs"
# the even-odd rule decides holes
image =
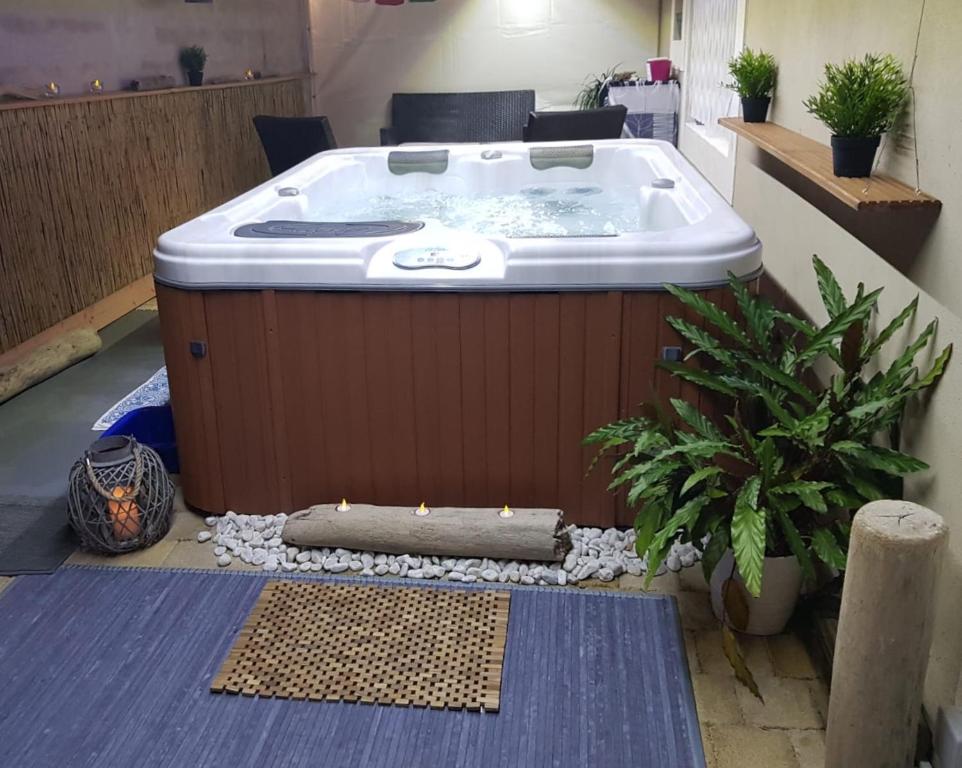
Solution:
[[[658,50],[658,0],[310,2],[314,111],[342,146],[378,143],[394,92],[533,88],[563,108],[588,74]]]

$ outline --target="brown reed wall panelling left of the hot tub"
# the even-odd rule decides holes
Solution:
[[[269,177],[251,124],[302,78],[0,106],[0,353],[152,270],[162,232]]]

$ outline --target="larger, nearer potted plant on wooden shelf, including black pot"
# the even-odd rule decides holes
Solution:
[[[824,82],[804,104],[832,131],[836,176],[872,174],[881,136],[895,125],[908,93],[902,65],[890,54],[825,65]]]

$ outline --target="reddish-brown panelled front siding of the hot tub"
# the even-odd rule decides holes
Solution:
[[[628,525],[581,439],[653,394],[699,398],[655,368],[681,345],[665,293],[157,294],[184,495],[212,513],[346,496]]]

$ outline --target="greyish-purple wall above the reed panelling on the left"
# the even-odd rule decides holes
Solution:
[[[201,45],[207,77],[307,71],[306,0],[0,0],[0,85],[83,93],[173,75],[181,47]]]

